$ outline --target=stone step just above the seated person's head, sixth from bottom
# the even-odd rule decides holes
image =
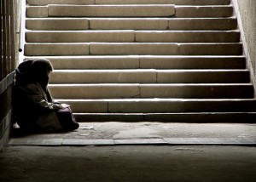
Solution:
[[[241,43],[26,43],[25,55],[241,55]]]

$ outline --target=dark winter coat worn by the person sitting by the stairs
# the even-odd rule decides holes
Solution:
[[[38,128],[45,131],[61,129],[56,115],[60,108],[46,90],[37,82],[26,86],[15,86],[15,117],[20,128]]]

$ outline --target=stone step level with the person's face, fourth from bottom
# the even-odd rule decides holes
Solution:
[[[248,70],[55,70],[50,82],[247,83],[250,82],[250,73]]]

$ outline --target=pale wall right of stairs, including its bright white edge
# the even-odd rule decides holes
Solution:
[[[247,56],[248,66],[252,71],[252,81],[255,86],[256,75],[256,1],[232,0],[241,30],[241,39]]]

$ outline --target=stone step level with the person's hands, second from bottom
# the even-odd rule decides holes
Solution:
[[[107,99],[59,100],[71,105],[74,113],[183,113],[255,111],[254,99]]]

